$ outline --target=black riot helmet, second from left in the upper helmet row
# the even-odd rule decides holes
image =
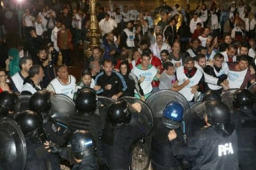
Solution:
[[[51,97],[51,92],[47,90],[37,91],[29,99],[30,109],[37,113],[48,112],[52,107],[50,97]]]

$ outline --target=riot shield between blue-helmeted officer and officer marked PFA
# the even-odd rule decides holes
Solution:
[[[190,108],[190,113],[184,116],[184,122],[186,124],[186,135],[195,136],[195,133],[205,126],[203,119],[198,116],[198,111],[202,111],[200,108],[202,102],[194,103]]]

